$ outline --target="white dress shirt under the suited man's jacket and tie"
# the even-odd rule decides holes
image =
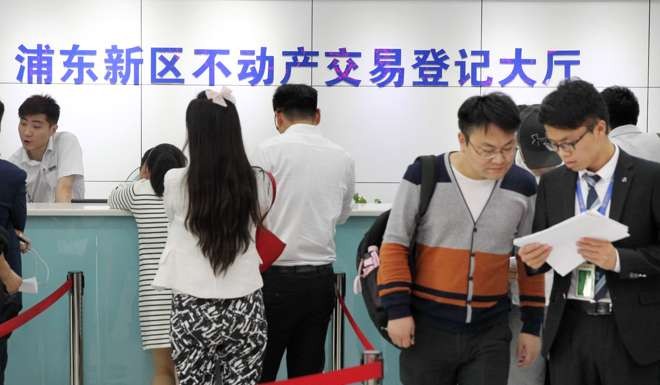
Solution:
[[[612,182],[614,178],[614,170],[616,169],[616,165],[619,162],[619,147],[614,145],[614,154],[610,158],[610,160],[605,163],[603,167],[600,168],[600,170],[596,172],[591,172],[587,170],[582,170],[578,172],[578,183],[580,183],[580,189],[582,190],[582,198],[587,199],[587,194],[589,193],[589,185],[587,182],[584,180],[584,175],[589,174],[589,175],[598,175],[600,177],[600,180],[596,182],[596,185],[594,188],[596,189],[596,193],[598,194],[598,202],[599,204],[603,203],[603,200],[605,199],[605,195],[607,194],[607,189],[610,186],[610,183]],[[586,204],[586,202],[583,202]],[[600,207],[600,206],[599,206]],[[605,210],[604,215],[609,216],[610,215],[610,207],[612,207],[612,200],[610,199],[609,204],[607,205],[607,208]],[[575,197],[575,215],[580,215],[580,203],[578,202],[577,194]],[[621,264],[619,261],[619,255],[617,253],[616,256],[616,266],[614,267],[615,272],[621,271]],[[576,288],[577,288],[577,281],[578,281],[578,275],[575,270],[571,273],[571,287],[568,290],[568,298],[569,299],[576,299],[580,301],[585,301],[584,298],[579,298],[575,295]],[[608,292],[605,298],[601,300],[601,302],[608,302],[610,300],[610,293]]]

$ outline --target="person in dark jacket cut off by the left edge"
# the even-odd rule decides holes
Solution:
[[[0,120],[3,112],[4,106],[0,102]],[[18,234],[22,234],[25,229],[25,178],[25,171],[0,159],[0,227],[7,234],[7,249],[4,257],[12,270],[8,272],[7,279],[2,280],[6,291],[11,295],[5,296],[0,301],[0,323],[14,317],[21,310],[21,295],[17,293],[21,274],[20,249],[26,245],[20,244]],[[4,384],[8,338],[9,336],[0,338],[0,385]]]

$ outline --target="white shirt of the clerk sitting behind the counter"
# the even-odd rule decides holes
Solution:
[[[74,176],[72,198],[85,196],[82,149],[78,138],[70,132],[56,132],[51,136],[41,161],[31,160],[23,147],[9,161],[27,173],[29,202],[55,202],[57,181],[71,175]]]

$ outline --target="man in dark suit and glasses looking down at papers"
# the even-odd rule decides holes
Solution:
[[[607,106],[593,85],[565,81],[539,116],[564,166],[541,177],[534,231],[586,210],[628,226],[611,242],[581,239],[585,263],[554,274],[543,332],[552,384],[657,385],[660,381],[660,164],[632,157],[607,136]],[[519,250],[533,272],[551,248]]]

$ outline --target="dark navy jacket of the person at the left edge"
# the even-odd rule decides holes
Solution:
[[[21,253],[14,229],[25,229],[25,171],[0,159],[0,227],[6,230],[8,252],[5,255],[12,270],[21,274]],[[0,303],[0,322],[13,317],[21,307],[20,294]]]

